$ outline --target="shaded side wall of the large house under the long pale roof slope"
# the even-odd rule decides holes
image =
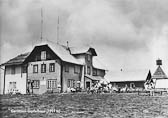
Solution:
[[[69,72],[65,71],[65,66],[68,65],[69,67]],[[76,65],[80,69],[80,73],[75,73],[74,72],[74,67],[75,64],[70,64],[70,63],[63,63],[63,72],[62,72],[62,77],[63,77],[63,92],[67,91],[68,88],[68,79],[74,80],[75,81],[75,87],[77,87],[77,81],[81,81],[82,77],[82,66]]]

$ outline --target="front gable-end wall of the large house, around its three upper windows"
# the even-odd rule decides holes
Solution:
[[[55,72],[49,72],[49,64],[55,63]],[[29,62],[28,66],[28,79],[29,80],[40,80],[39,88],[34,88],[33,93],[42,94],[47,89],[47,80],[56,80],[57,88],[54,92],[58,92],[58,85],[61,85],[61,64],[60,60],[48,60],[48,61],[37,61]],[[38,73],[33,73],[33,65],[38,65]],[[41,64],[46,64],[46,73],[41,73]],[[32,90],[31,90],[32,91]]]

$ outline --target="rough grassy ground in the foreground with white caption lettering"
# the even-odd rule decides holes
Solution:
[[[137,93],[2,95],[1,118],[168,118],[168,96]]]

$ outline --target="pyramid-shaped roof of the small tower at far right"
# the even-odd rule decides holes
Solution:
[[[167,75],[164,73],[164,71],[162,70],[161,66],[158,66],[158,68],[156,69],[156,71],[153,74],[152,78],[155,78],[155,79],[166,79]]]

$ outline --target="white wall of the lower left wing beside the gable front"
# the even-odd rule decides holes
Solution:
[[[5,94],[12,91],[10,82],[16,82],[18,92],[26,94],[26,73],[21,73],[21,66],[15,67],[15,74],[11,74],[11,66],[6,67]]]

